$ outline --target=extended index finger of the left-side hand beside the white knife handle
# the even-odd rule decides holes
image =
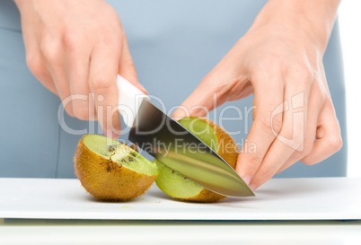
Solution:
[[[91,55],[89,84],[103,132],[110,138],[120,135],[117,74],[121,51],[106,45],[95,47]]]

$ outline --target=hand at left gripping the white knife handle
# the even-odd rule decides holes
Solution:
[[[60,97],[70,116],[98,119],[105,135],[117,138],[117,74],[145,92],[118,14],[103,0],[15,2],[32,74]],[[86,97],[66,100],[80,94]]]

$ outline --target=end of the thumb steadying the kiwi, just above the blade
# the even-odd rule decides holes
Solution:
[[[216,103],[216,97],[217,93],[212,89],[208,80],[203,80],[173,112],[172,118],[180,120],[185,117],[206,117],[211,110],[219,106]]]

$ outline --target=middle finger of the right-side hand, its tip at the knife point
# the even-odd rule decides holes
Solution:
[[[292,155],[297,152],[304,153],[304,141],[309,133],[309,128],[306,128],[308,105],[312,103],[313,109],[318,112],[321,104],[321,100],[315,96],[320,94],[318,91],[313,90],[310,95],[311,88],[314,87],[313,79],[313,74],[307,67],[302,69],[294,66],[287,71],[282,128],[270,145],[259,170],[251,179],[250,187],[253,190],[272,178]],[[311,123],[314,123],[313,120],[314,118]],[[311,129],[311,134],[313,130]]]

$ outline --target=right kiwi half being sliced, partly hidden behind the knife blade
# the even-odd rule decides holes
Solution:
[[[233,169],[235,168],[239,153],[238,146],[233,138],[225,132],[225,129],[208,118],[189,117],[182,118],[179,122],[218,153]],[[226,198],[207,188],[203,188],[181,173],[173,171],[162,162],[158,160],[154,160],[154,162],[157,164],[159,171],[155,182],[167,195],[185,201],[204,203],[217,202]]]

